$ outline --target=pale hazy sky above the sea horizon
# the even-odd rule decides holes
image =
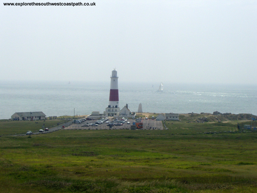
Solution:
[[[1,1],[0,80],[257,83],[256,0],[3,5],[32,1]]]

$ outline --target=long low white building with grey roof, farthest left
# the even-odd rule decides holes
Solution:
[[[11,116],[12,120],[22,121],[22,120],[44,120],[46,115],[43,112],[21,112],[15,113]]]

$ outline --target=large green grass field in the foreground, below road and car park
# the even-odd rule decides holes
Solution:
[[[256,132],[237,132],[236,122],[165,124],[2,136],[0,192],[257,192]]]

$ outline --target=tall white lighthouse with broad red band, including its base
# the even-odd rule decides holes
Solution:
[[[115,116],[120,113],[118,78],[117,70],[114,69],[111,75],[109,105],[105,108],[105,116]]]

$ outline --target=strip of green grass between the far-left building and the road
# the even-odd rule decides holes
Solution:
[[[37,122],[37,123],[36,123]],[[27,131],[38,131],[42,129],[43,124],[45,128],[57,126],[57,123],[65,123],[67,120],[36,120],[36,121],[1,121],[0,135],[21,134]]]

